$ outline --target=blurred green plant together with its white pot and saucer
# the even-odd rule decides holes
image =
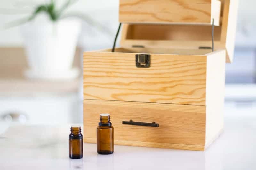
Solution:
[[[8,26],[21,25],[29,69],[28,78],[47,80],[67,80],[76,78],[77,68],[72,68],[81,18],[90,24],[103,28],[84,14],[64,11],[76,0],[67,0],[59,9],[56,2],[36,7],[28,18],[9,23]],[[103,28],[103,30],[107,30]]]

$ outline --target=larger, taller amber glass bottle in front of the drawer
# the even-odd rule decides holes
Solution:
[[[100,114],[100,122],[97,127],[97,152],[99,154],[114,152],[114,128],[108,113]]]

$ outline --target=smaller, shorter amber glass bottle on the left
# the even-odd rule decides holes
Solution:
[[[71,127],[69,134],[69,158],[83,158],[83,135],[81,127]]]

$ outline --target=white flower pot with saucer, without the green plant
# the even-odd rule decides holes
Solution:
[[[72,69],[81,22],[63,19],[58,22],[31,21],[21,27],[29,70],[28,78],[64,80],[76,78]]]

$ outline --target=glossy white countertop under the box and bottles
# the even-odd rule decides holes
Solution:
[[[256,169],[256,114],[225,114],[220,137],[206,151],[115,145],[99,155],[84,144],[83,159],[68,158],[67,126],[12,126],[0,135],[0,169]]]

